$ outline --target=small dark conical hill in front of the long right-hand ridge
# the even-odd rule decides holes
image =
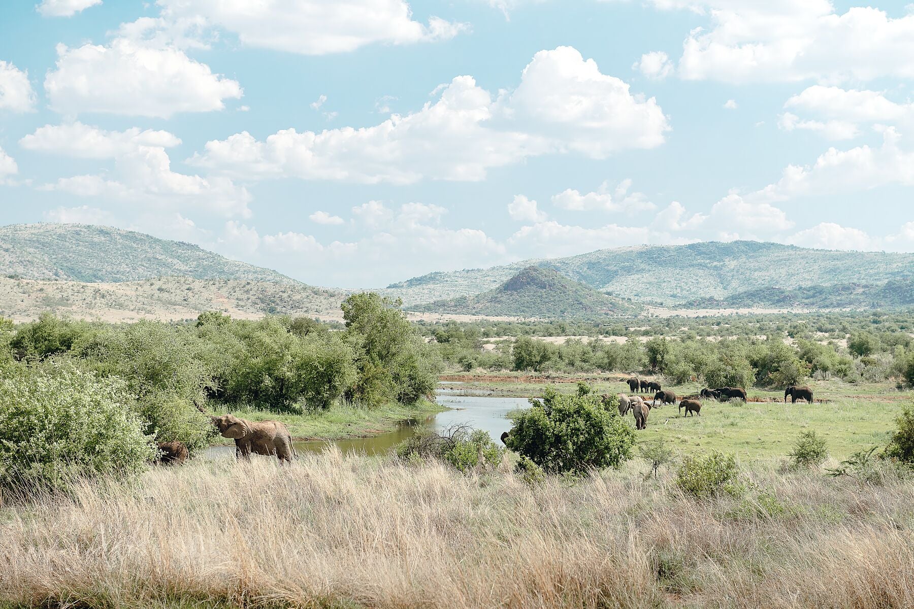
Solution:
[[[551,268],[531,266],[478,296],[438,300],[406,309],[458,315],[571,318],[634,314],[643,307],[602,294]]]

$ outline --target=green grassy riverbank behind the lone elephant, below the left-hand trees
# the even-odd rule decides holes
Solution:
[[[249,421],[281,421],[289,428],[293,440],[342,440],[353,437],[367,437],[393,431],[400,421],[418,415],[441,412],[439,404],[421,400],[417,404],[405,405],[391,402],[377,407],[365,408],[347,404],[334,404],[328,410],[303,415],[271,413],[263,410],[239,409],[232,415]],[[219,415],[223,413],[219,412]],[[233,444],[234,440],[216,436],[217,444]]]

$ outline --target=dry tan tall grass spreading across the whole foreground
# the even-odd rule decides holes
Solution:
[[[630,467],[527,487],[328,449],[6,506],[0,605],[914,606],[914,484],[755,472],[697,502]]]

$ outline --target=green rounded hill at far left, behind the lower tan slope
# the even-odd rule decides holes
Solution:
[[[154,277],[298,283],[274,270],[229,260],[182,241],[108,226],[0,226],[0,275],[85,283]]]

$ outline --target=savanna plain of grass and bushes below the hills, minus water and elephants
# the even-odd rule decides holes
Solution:
[[[0,606],[914,606],[908,313],[557,329],[409,323],[374,295],[343,311],[0,326],[2,423],[29,430],[0,447]],[[615,398],[632,376],[749,401],[654,407],[636,431]],[[789,384],[815,401],[784,403]],[[206,457],[226,439],[194,407],[335,438],[429,412],[439,386],[534,403],[506,448],[426,430],[291,465]],[[150,465],[156,441],[191,458]]]

